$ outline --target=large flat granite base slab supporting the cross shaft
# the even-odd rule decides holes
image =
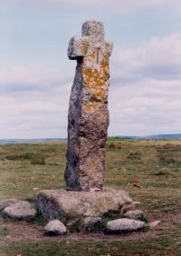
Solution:
[[[100,192],[44,190],[38,193],[37,207],[45,219],[98,217],[110,211],[120,211],[133,203],[127,192],[104,188]]]

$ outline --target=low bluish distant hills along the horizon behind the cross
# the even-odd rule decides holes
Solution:
[[[181,139],[181,133],[177,134],[157,134],[150,136],[112,136],[110,140],[174,140]],[[0,143],[46,143],[46,142],[66,142],[66,138],[43,138],[43,139],[6,139]]]

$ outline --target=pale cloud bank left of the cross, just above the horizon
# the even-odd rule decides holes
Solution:
[[[1,138],[66,137],[71,84],[51,86],[0,94]]]

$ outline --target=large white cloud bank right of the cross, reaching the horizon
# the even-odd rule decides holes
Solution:
[[[110,134],[181,133],[180,68],[180,34],[115,49]]]

